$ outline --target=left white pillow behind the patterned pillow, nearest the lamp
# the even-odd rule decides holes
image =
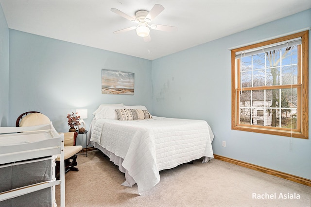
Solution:
[[[118,116],[116,109],[122,109],[124,104],[102,104],[93,112],[94,119],[114,119],[117,120]]]

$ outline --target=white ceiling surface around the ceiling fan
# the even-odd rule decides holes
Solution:
[[[311,8],[311,0],[0,0],[8,27],[107,51],[154,60],[205,42]],[[151,24],[176,26],[176,32],[151,30],[144,42],[135,30],[112,32],[136,23],[138,10],[164,6]],[[150,51],[150,52],[148,52]]]

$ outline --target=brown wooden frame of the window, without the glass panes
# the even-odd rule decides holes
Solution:
[[[301,62],[301,77],[298,79],[301,80],[301,83],[298,83],[297,88],[301,87],[300,97],[301,100],[297,100],[297,129],[296,130],[289,130],[286,128],[280,127],[269,127],[269,126],[259,126],[259,125],[246,125],[239,123],[239,111],[240,111],[240,104],[239,104],[239,91],[241,88],[238,88],[238,84],[240,83],[240,73],[238,72],[239,68],[239,61],[236,63],[236,52],[241,52],[253,48],[259,48],[270,44],[275,44],[278,42],[287,41],[290,39],[301,37],[302,43],[302,52],[299,56],[301,59],[298,59],[298,63]],[[236,65],[237,68],[236,68]],[[299,67],[298,67],[299,68]],[[299,69],[298,69],[299,70]],[[287,35],[283,37],[278,37],[275,39],[259,42],[256,44],[244,46],[237,49],[231,50],[231,94],[232,94],[232,108],[231,108],[231,129],[233,130],[242,130],[248,132],[256,132],[256,133],[263,133],[263,134],[271,134],[271,135],[279,135],[285,137],[293,137],[293,138],[309,138],[309,31],[303,31],[299,33],[295,33],[293,35]],[[283,86],[277,86],[277,88],[282,88]],[[255,87],[253,87],[255,88]],[[256,87],[257,89],[260,87]]]

